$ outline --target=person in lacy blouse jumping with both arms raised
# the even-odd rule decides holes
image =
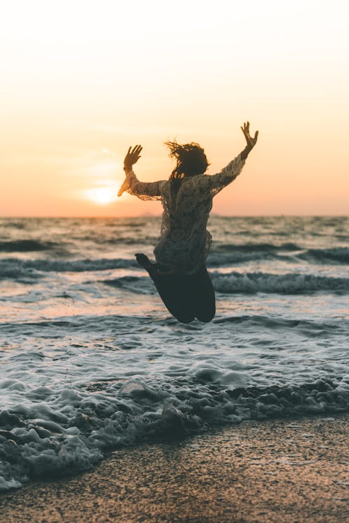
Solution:
[[[156,263],[144,254],[135,257],[149,273],[170,313],[182,323],[195,318],[211,321],[216,313],[214,289],[205,265],[212,242],[206,225],[213,197],[240,174],[257,142],[258,131],[251,137],[249,128],[249,122],[244,123],[245,149],[214,175],[205,174],[209,166],[205,151],[193,142],[165,143],[177,162],[168,180],[137,179],[132,166],[140,158],[142,146],[130,147],[125,156],[126,179],[118,196],[126,191],[143,200],[161,200],[163,204],[161,236],[154,249]]]

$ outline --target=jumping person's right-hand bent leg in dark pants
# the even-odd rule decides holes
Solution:
[[[216,314],[214,287],[206,267],[193,276],[191,292],[193,294],[194,314],[198,320],[207,323]]]

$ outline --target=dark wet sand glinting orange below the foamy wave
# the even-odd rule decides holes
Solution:
[[[118,450],[0,496],[1,523],[349,520],[348,415],[247,422]]]

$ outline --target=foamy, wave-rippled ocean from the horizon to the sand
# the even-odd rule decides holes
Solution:
[[[207,427],[349,406],[349,218],[212,215],[209,324],[135,252],[160,218],[0,219],[0,490]]]

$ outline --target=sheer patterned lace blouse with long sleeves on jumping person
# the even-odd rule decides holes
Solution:
[[[212,199],[235,180],[244,164],[239,155],[218,174],[184,176],[173,194],[170,180],[142,182],[132,170],[126,173],[118,196],[126,191],[143,200],[161,200],[163,204],[161,235],[154,249],[163,270],[193,274],[205,266],[212,243],[206,229]]]

